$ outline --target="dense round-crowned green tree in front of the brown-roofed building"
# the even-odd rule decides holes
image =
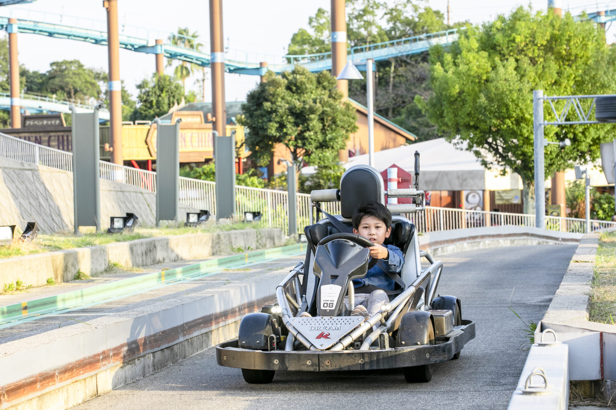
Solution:
[[[289,148],[298,171],[304,163],[330,166],[357,131],[355,109],[342,102],[336,79],[299,65],[280,75],[267,71],[241,109],[238,123],[250,129],[246,144],[259,166],[269,163],[278,143]]]

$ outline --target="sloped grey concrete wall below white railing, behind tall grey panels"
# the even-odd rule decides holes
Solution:
[[[73,231],[73,173],[46,166],[0,159],[0,225],[36,222],[43,233]],[[180,204],[180,215],[197,211]],[[156,223],[156,195],[126,183],[100,180],[100,225],[110,217],[133,212],[139,223]]]

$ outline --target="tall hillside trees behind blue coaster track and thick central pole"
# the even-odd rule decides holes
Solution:
[[[420,7],[418,1],[398,0],[393,4],[374,0],[346,2],[347,38],[349,46],[434,33],[464,23],[447,26],[444,15],[430,7]],[[386,23],[384,25],[383,23]],[[308,30],[300,28],[293,34],[288,54],[314,54],[331,49],[330,14],[318,9],[308,20]],[[375,110],[395,124],[418,136],[418,141],[437,138],[436,126],[413,102],[415,95],[429,98],[428,54],[408,55],[376,63]],[[365,80],[349,81],[349,97],[366,105]]]

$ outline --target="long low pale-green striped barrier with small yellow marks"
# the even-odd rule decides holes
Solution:
[[[15,321],[34,320],[36,316],[58,310],[74,310],[83,305],[92,305],[107,299],[118,299],[120,296],[138,294],[150,291],[166,284],[198,278],[213,274],[221,268],[238,267],[253,263],[267,262],[268,260],[300,255],[306,250],[306,244],[275,247],[263,251],[246,252],[217,259],[209,259],[185,267],[164,270],[158,273],[134,276],[133,278],[87,287],[79,291],[67,292],[60,295],[30,300],[28,302],[14,303],[0,307],[0,328],[12,326]],[[4,325],[4,326],[2,326]]]

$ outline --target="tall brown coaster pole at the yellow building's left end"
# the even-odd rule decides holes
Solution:
[[[122,153],[122,83],[120,81],[120,38],[118,37],[118,0],[104,0],[107,9],[107,51],[109,58],[109,130],[111,162],[124,164]]]

